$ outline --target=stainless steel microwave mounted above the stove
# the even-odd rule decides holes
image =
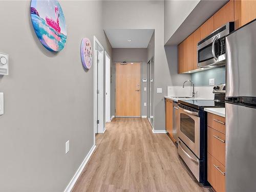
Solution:
[[[200,68],[214,68],[225,65],[226,42],[225,36],[234,30],[234,22],[212,32],[210,35],[198,42],[197,65]]]

